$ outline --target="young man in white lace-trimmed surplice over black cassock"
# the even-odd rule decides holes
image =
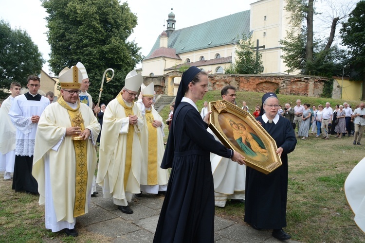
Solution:
[[[38,194],[37,181],[32,176],[34,143],[39,117],[50,100],[38,94],[38,76],[29,76],[27,87],[29,92],[15,97],[9,111],[10,119],[17,128],[12,189]]]

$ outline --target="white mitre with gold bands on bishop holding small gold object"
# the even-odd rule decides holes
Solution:
[[[76,66],[71,69],[66,67],[59,72],[58,80],[61,88],[78,89],[81,86],[82,73]]]

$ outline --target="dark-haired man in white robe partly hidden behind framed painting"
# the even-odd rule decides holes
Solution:
[[[236,88],[225,86],[220,92],[222,99],[235,104]],[[209,129],[210,130],[210,129]],[[211,132],[213,134],[213,132]],[[218,138],[213,134],[216,140]],[[214,198],[217,207],[225,207],[227,200],[231,203],[244,203],[246,186],[246,166],[239,165],[229,158],[210,154],[214,180]]]

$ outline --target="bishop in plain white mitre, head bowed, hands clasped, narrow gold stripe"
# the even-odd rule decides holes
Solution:
[[[127,74],[125,87],[104,111],[100,136],[96,183],[103,187],[104,198],[113,197],[118,209],[128,214],[133,213],[128,206],[133,193],[141,192],[140,134],[144,122],[134,99],[142,83],[141,73],[132,70]]]

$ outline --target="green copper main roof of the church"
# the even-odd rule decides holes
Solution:
[[[176,54],[201,50],[210,47],[237,42],[237,36],[250,34],[250,10],[239,12],[211,21],[175,30],[168,38],[168,48],[176,50]],[[160,47],[160,36],[157,38],[148,58]]]

